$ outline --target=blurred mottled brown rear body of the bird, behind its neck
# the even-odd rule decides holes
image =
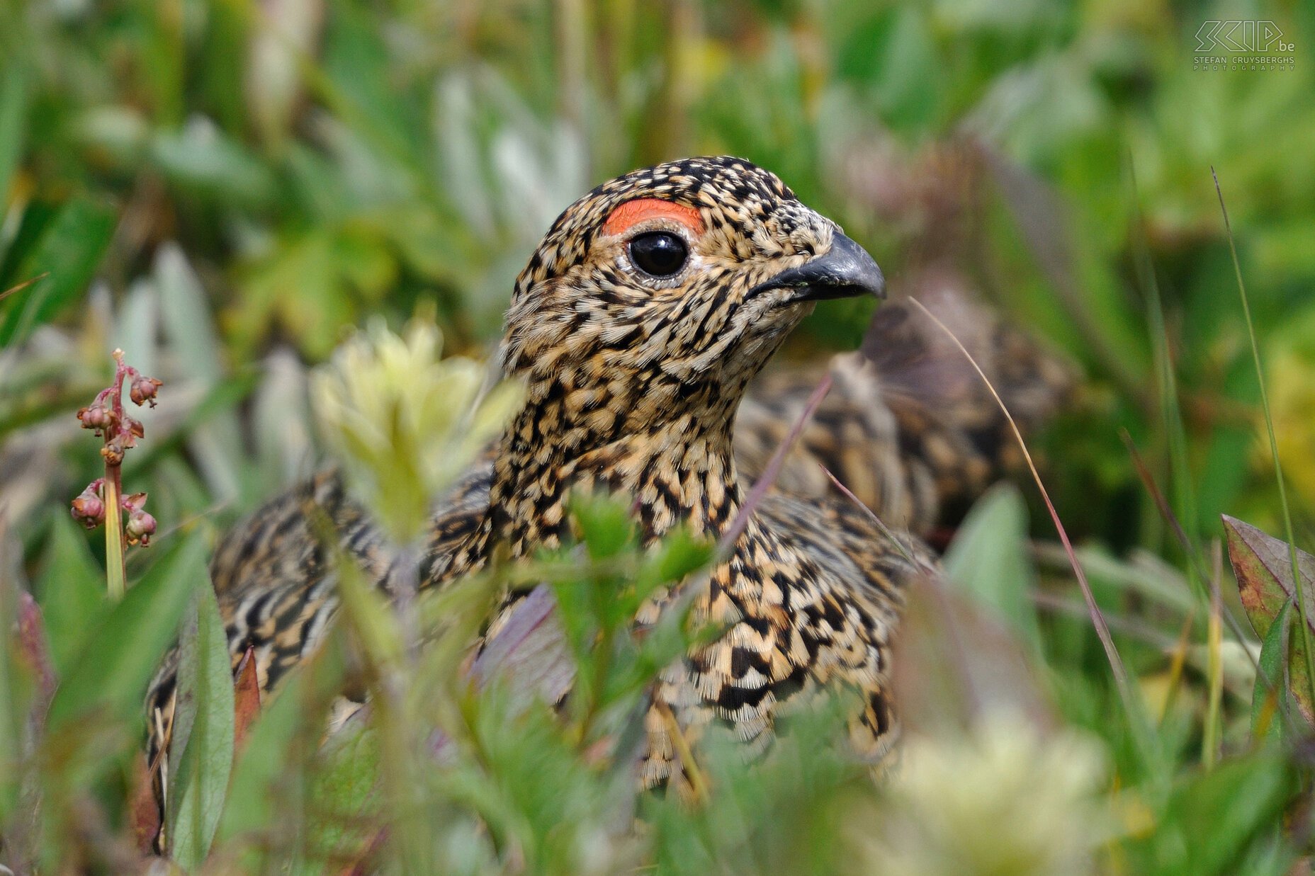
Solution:
[[[978,305],[928,296],[1010,409],[1023,434],[1066,404],[1073,370]],[[839,497],[823,467],[898,530],[952,522],[1020,463],[1016,441],[981,376],[909,301],[877,310],[863,349],[834,356],[831,391],[776,479],[802,499]],[[764,374],[740,405],[735,456],[750,480],[798,420],[822,367]]]

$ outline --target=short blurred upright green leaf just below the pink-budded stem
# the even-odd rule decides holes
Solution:
[[[87,631],[108,608],[105,571],[92,556],[78,523],[63,509],[53,514],[50,543],[37,584],[50,655],[55,672],[63,677],[87,643]]]

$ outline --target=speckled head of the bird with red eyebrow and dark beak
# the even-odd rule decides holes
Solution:
[[[872,256],[775,174],[738,158],[669,162],[604,183],[554,222],[517,280],[502,364],[531,405],[575,397],[613,437],[698,405],[729,422],[815,301],[882,285]]]

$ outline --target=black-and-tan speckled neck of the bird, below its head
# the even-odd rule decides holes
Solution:
[[[738,393],[651,388],[631,404],[597,400],[560,385],[531,392],[494,462],[493,539],[513,556],[560,545],[572,489],[631,497],[647,539],[681,522],[719,535],[740,505],[731,452]]]

